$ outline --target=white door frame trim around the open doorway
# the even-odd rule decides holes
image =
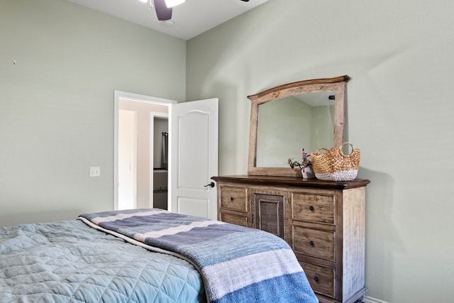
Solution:
[[[120,109],[120,99],[129,99],[132,101],[148,102],[165,106],[177,104],[176,100],[152,97],[143,94],[133,94],[130,92],[121,92],[117,90],[114,91],[114,209],[118,209],[118,111]],[[153,161],[153,158],[151,158],[151,160]],[[153,170],[150,171],[150,174],[153,175]],[[150,180],[153,180],[153,177]]]

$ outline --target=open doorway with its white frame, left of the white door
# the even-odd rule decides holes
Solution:
[[[155,158],[161,158],[162,133],[168,133],[169,106],[175,103],[169,99],[115,92],[114,209],[167,209],[170,176],[167,168],[164,173],[161,159],[155,164]],[[168,155],[168,150],[165,153]],[[155,174],[155,167],[160,175]],[[155,190],[159,196],[166,192],[165,204],[155,205]]]

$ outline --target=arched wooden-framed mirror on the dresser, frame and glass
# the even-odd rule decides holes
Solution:
[[[347,75],[283,84],[248,96],[248,175],[301,176],[288,158],[343,143]]]

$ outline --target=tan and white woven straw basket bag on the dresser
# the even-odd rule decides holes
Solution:
[[[345,155],[342,152],[344,145],[350,145],[352,152]],[[324,153],[321,151],[324,150]],[[353,148],[351,143],[343,143],[338,148],[319,148],[311,153],[312,169],[315,177],[325,181],[351,181],[355,179],[360,167],[361,152]]]

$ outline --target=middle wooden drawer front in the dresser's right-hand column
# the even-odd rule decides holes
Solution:
[[[293,226],[293,250],[295,253],[334,262],[336,261],[335,238],[335,233],[331,231],[318,231],[311,228]]]

